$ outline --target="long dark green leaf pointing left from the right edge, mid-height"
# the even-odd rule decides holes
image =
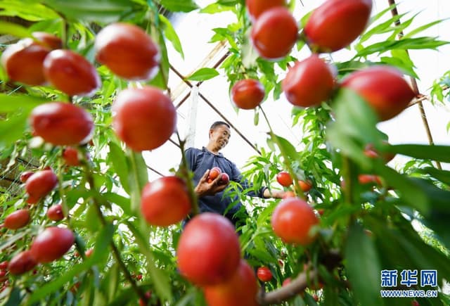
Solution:
[[[450,162],[450,146],[428,146],[421,144],[398,144],[390,146],[389,152],[408,155],[412,158]]]

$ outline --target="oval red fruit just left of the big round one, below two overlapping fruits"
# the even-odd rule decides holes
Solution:
[[[72,103],[44,103],[32,110],[30,125],[37,136],[55,146],[86,144],[94,133],[92,116]]]

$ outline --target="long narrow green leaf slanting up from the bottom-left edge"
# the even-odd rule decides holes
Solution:
[[[101,261],[102,257],[105,255],[105,250],[108,249],[108,244],[113,238],[114,234],[114,226],[113,224],[108,224],[101,230],[100,234],[96,239],[94,253],[90,257],[87,257],[81,264],[75,264],[72,269],[67,272],[61,274],[54,281],[45,283],[43,286],[37,288],[31,295],[28,300],[29,304],[33,304],[38,302],[39,300],[45,298],[51,293],[58,291],[59,288],[63,287],[65,283],[71,281],[75,276],[80,273],[86,271],[90,267],[92,267],[97,262]]]

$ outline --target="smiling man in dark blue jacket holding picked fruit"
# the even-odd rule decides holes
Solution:
[[[227,217],[235,227],[238,227],[238,222],[244,221],[247,217],[245,208],[240,203],[238,196],[224,194],[226,185],[219,184],[220,175],[208,183],[208,174],[213,167],[219,167],[222,172],[229,175],[231,181],[240,183],[243,189],[248,189],[252,185],[242,178],[240,171],[231,160],[219,153],[229,142],[230,126],[226,122],[214,122],[210,127],[209,136],[207,146],[201,150],[198,148],[186,150],[188,167],[194,173],[193,181],[200,212],[217,212]],[[259,198],[282,198],[283,194],[283,191],[269,191],[266,187],[247,193],[248,196]]]

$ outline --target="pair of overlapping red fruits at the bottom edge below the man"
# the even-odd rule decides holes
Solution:
[[[240,257],[233,224],[205,212],[191,219],[176,249],[181,275],[202,288],[208,305],[257,305],[255,272]]]

